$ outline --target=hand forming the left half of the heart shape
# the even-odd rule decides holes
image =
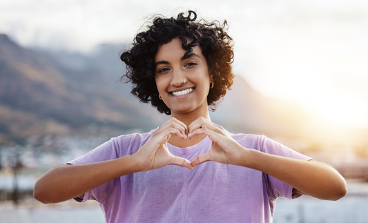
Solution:
[[[191,162],[187,159],[172,155],[168,151],[166,143],[172,134],[182,139],[187,138],[186,125],[173,117],[155,130],[146,144],[133,155],[142,171],[153,170],[168,164],[193,169]]]

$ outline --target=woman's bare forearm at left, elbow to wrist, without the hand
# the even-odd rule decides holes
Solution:
[[[131,156],[93,164],[59,166],[46,172],[36,182],[33,195],[45,204],[64,202],[137,171],[139,169]]]

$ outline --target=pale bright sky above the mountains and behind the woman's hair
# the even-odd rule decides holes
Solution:
[[[336,124],[368,128],[368,1],[0,0],[0,33],[22,46],[89,52],[130,43],[154,14],[226,19],[235,75]]]

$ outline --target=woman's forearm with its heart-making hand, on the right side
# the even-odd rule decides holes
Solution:
[[[210,137],[213,144],[209,152],[195,157],[192,166],[209,160],[253,168],[267,173],[295,188],[293,191],[323,200],[338,200],[347,193],[345,179],[327,164],[304,161],[262,153],[242,147],[217,124],[197,119],[188,126],[188,138],[197,134]]]

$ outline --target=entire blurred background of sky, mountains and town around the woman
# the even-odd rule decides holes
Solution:
[[[274,222],[367,222],[368,1],[0,0],[0,222],[104,222],[95,202],[41,204],[36,180],[110,137],[168,117],[119,81],[154,14],[229,23],[235,83],[213,122],[335,167],[338,202],[278,200]]]

